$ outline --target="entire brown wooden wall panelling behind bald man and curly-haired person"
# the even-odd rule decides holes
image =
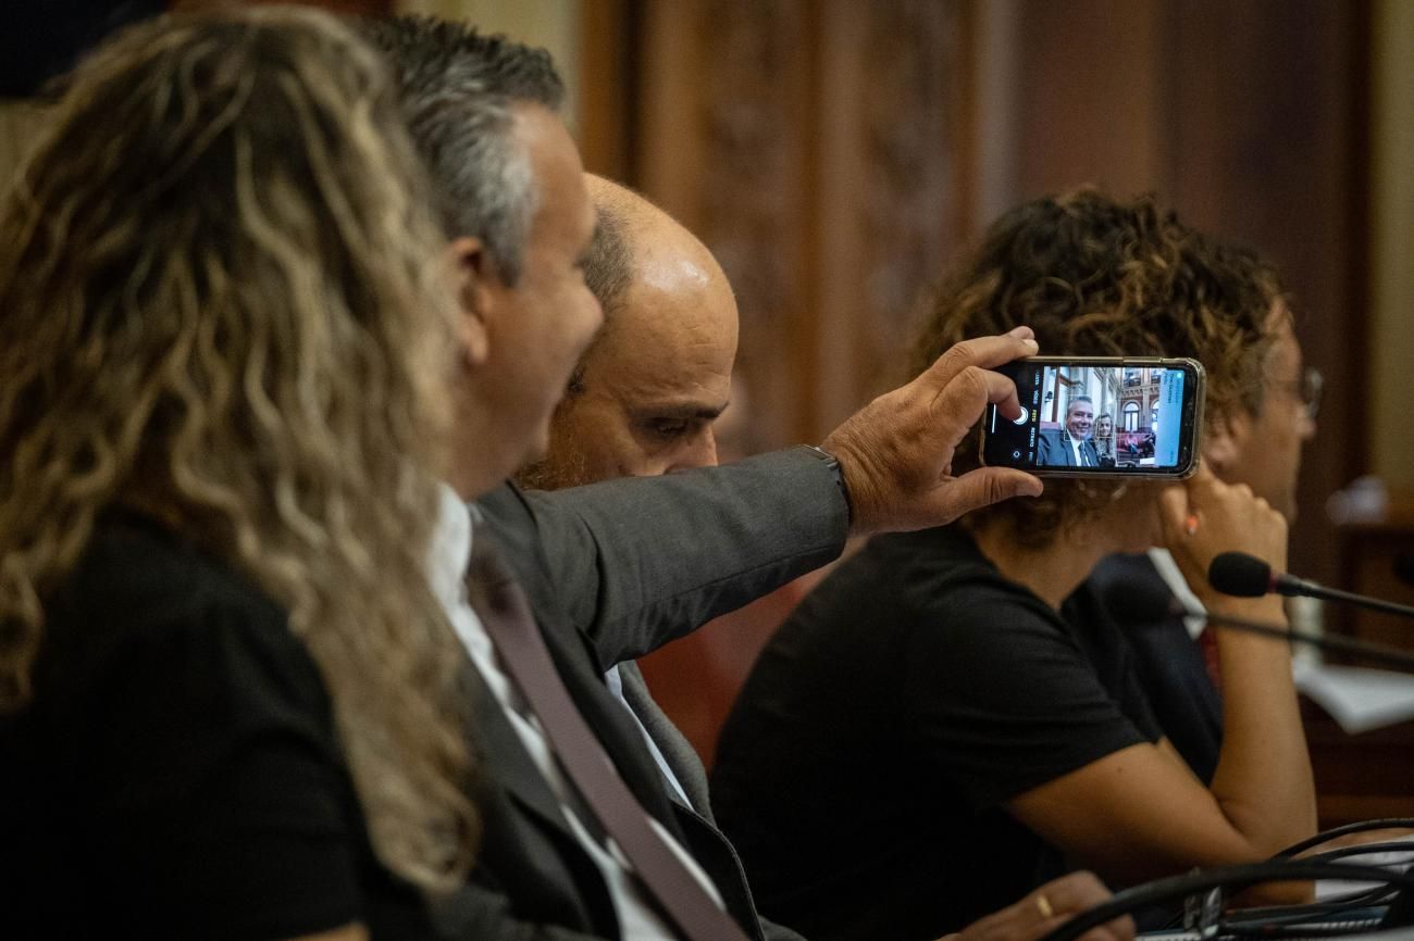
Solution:
[[[1369,0],[615,1],[615,160],[737,287],[755,449],[899,379],[913,300],[978,213],[1152,189],[1287,274],[1328,379],[1291,565],[1333,581],[1325,496],[1367,459]]]

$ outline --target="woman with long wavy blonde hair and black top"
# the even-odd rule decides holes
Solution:
[[[460,882],[428,205],[325,14],[71,78],[0,216],[0,935],[409,938]]]

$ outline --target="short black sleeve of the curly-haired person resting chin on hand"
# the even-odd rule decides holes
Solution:
[[[1151,740],[1063,627],[1000,588],[950,592],[909,633],[901,668],[921,760],[974,808]]]

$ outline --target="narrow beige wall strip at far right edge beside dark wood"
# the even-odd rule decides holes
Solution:
[[[1377,0],[1373,13],[1370,459],[1414,490],[1414,3]]]

